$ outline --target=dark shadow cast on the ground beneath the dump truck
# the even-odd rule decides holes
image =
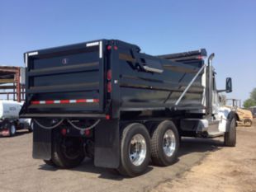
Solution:
[[[223,142],[214,139],[204,139],[204,138],[183,138],[178,152],[178,161],[180,157],[187,155],[192,152],[212,152],[219,150],[223,147]],[[177,162],[178,162],[177,161]],[[49,166],[46,164],[40,165],[40,170],[44,171],[57,171],[58,168]],[[149,166],[145,174],[149,171],[152,171],[154,166]],[[92,159],[86,158],[81,166],[71,169],[70,171],[83,171],[90,172],[95,174],[100,174],[98,178],[107,179],[107,180],[123,180],[129,179],[128,177],[121,176],[116,170],[105,169],[101,167],[96,167],[93,165]]]

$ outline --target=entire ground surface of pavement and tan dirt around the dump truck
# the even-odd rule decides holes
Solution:
[[[19,131],[0,137],[0,191],[256,191],[256,126],[237,133],[236,148],[223,138],[183,138],[178,162],[126,178],[89,159],[71,170],[47,166],[31,157],[32,134]]]

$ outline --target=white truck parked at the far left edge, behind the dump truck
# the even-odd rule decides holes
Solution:
[[[28,129],[31,132],[31,119],[19,119],[23,103],[17,101],[0,101],[0,135],[13,136],[17,129]]]

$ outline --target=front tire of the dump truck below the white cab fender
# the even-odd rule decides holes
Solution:
[[[224,144],[227,147],[235,147],[236,144],[236,129],[235,129],[235,118],[229,120],[227,124],[228,132],[224,135]]]

